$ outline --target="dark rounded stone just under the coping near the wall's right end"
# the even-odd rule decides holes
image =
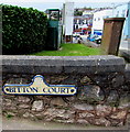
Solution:
[[[123,82],[124,82],[124,77],[122,75],[117,75],[112,79],[112,86],[113,87],[119,87],[119,86],[123,85]]]

